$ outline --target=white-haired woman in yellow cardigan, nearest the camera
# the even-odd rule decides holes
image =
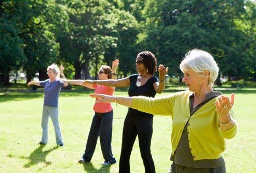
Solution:
[[[180,64],[183,82],[188,90],[165,97],[114,97],[92,94],[96,102],[116,102],[146,113],[170,115],[171,173],[226,172],[221,153],[225,150],[225,138],[233,138],[237,132],[231,98],[213,91],[213,83],[219,72],[213,57],[202,50],[191,50]]]

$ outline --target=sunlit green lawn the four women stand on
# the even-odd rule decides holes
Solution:
[[[87,140],[94,100],[88,97],[91,90],[61,92],[59,121],[65,146],[56,147],[55,133],[49,121],[49,142],[41,139],[42,92],[0,93],[0,172],[118,172],[122,143],[122,131],[127,107],[114,106],[112,151],[117,164],[102,167],[103,157],[98,141],[91,163],[78,164]],[[236,136],[227,140],[223,153],[228,173],[256,172],[256,91],[222,90],[226,95],[236,93],[235,117],[239,124]],[[168,92],[170,93],[170,92]],[[167,95],[167,92],[157,95]],[[115,95],[127,96],[117,91]],[[171,119],[169,116],[154,117],[151,150],[157,172],[168,172],[171,145]],[[144,172],[138,138],[130,158],[131,172]]]

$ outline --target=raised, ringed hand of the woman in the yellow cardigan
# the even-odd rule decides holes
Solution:
[[[230,117],[230,109],[234,105],[235,95],[232,93],[231,98],[221,96],[215,102],[215,106],[217,108],[217,115],[219,116],[219,121],[222,124],[228,123],[231,119]]]

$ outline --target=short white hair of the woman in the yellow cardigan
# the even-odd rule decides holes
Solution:
[[[219,74],[219,67],[212,55],[198,49],[193,49],[186,53],[181,61],[180,69],[183,73],[192,69],[200,77],[204,77],[204,73],[207,70],[210,73],[209,83],[211,86],[213,86]]]

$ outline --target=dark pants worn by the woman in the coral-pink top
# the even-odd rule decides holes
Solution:
[[[108,113],[95,113],[93,116],[90,132],[88,135],[85,153],[83,158],[90,161],[95,151],[98,137],[105,161],[116,163],[111,150],[113,111]]]

